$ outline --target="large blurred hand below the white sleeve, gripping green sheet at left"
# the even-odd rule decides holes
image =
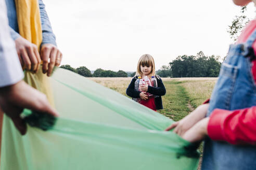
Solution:
[[[23,108],[58,116],[57,111],[48,103],[46,96],[24,81],[0,88],[0,107],[11,118],[21,135],[27,132],[27,126],[20,118]]]

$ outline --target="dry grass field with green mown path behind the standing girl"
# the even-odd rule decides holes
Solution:
[[[132,78],[94,77],[90,79],[127,96],[125,91]],[[162,96],[163,109],[158,112],[178,121],[210,98],[217,78],[162,78],[162,80],[167,93]],[[202,144],[199,151],[202,155]],[[200,163],[198,169],[200,169]]]

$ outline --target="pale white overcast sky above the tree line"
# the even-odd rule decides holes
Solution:
[[[135,71],[145,53],[156,69],[178,55],[224,57],[240,7],[232,0],[44,0],[62,64]],[[247,16],[254,18],[253,4]]]

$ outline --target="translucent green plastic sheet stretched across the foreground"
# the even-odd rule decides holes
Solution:
[[[171,119],[68,70],[56,69],[50,85],[56,125],[21,136],[5,116],[1,170],[197,168],[190,143],[163,131]]]

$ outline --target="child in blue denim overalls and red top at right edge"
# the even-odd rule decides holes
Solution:
[[[244,6],[252,1],[233,2]],[[167,129],[191,142],[206,138],[202,170],[256,167],[255,39],[254,19],[229,48],[210,101]]]

